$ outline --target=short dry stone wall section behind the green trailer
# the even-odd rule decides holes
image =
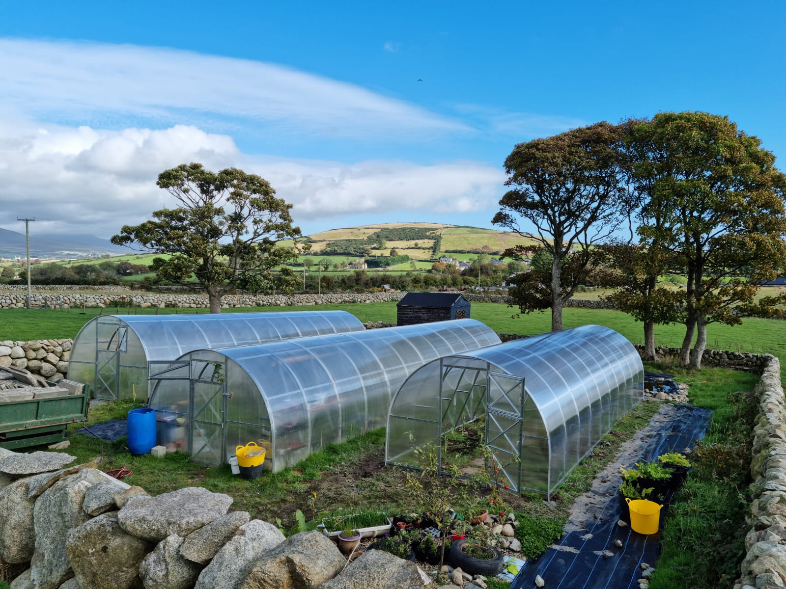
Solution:
[[[51,382],[60,382],[68,375],[72,339],[36,339],[16,342],[0,341],[0,368],[26,368]]]

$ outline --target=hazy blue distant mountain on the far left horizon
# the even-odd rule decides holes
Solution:
[[[33,229],[31,227],[31,229]],[[73,258],[80,254],[128,254],[127,247],[90,235],[42,237],[31,231],[30,255],[35,258]],[[24,233],[0,229],[0,257],[26,254]]]

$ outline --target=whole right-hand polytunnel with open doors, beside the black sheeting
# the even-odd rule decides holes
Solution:
[[[417,468],[410,432],[414,444],[440,448],[444,434],[485,418],[486,444],[509,488],[550,497],[643,396],[636,349],[599,325],[442,357],[395,394],[385,461]]]

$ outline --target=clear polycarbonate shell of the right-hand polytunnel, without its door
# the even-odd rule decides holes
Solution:
[[[439,401],[440,361],[475,370],[483,362],[487,370],[524,379],[527,401],[522,424],[521,486],[548,493],[644,395],[644,368],[634,346],[608,327],[585,325],[427,364],[396,393],[388,417],[389,431],[406,430],[418,418],[431,422],[429,426],[439,431],[439,423],[424,417],[430,413],[417,414],[414,400],[425,408]],[[462,403],[467,397],[466,384],[447,371],[444,374],[443,404],[450,400]],[[473,418],[480,415],[481,408],[476,408]],[[443,420],[443,433],[456,426],[448,417]],[[433,435],[439,434],[432,432],[427,437]],[[412,464],[413,457],[401,439],[388,437],[386,460]],[[534,455],[535,448],[547,450],[547,455]]]

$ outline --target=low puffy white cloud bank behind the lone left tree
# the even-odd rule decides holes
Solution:
[[[478,162],[420,165],[355,164],[274,159],[242,153],[231,137],[194,126],[164,130],[96,130],[0,121],[0,186],[13,201],[0,225],[18,230],[17,214],[37,216],[37,229],[93,228],[107,237],[121,225],[175,206],[156,187],[160,171],[198,161],[208,169],[239,166],[266,177],[293,203],[297,223],[347,214],[464,213],[492,206],[503,190],[502,170]],[[432,215],[429,215],[432,216]],[[46,225],[45,219],[65,225]]]

